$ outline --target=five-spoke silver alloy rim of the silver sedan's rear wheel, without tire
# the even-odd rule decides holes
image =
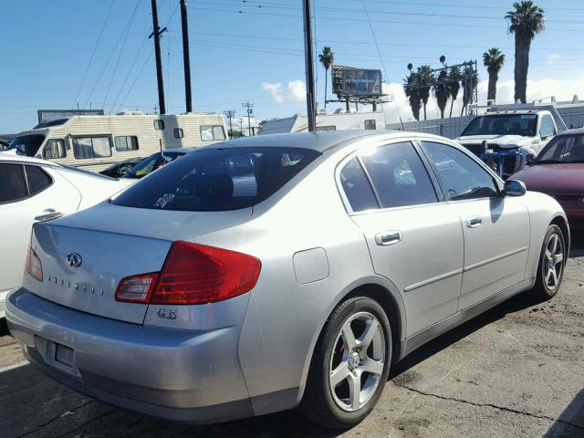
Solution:
[[[381,381],[386,360],[385,334],[369,312],[351,315],[339,330],[328,365],[328,382],[340,409],[354,412],[367,404]]]

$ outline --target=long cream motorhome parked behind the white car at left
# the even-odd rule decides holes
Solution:
[[[99,172],[114,162],[161,149],[225,140],[221,114],[73,116],[40,123],[16,135],[9,151]],[[5,152],[6,153],[6,152]]]

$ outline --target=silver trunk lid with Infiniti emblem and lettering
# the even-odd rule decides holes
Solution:
[[[25,287],[68,308],[141,324],[148,304],[116,301],[120,280],[160,271],[174,240],[237,224],[250,214],[251,209],[161,212],[102,203],[36,224],[32,246],[42,263],[43,281],[26,275]]]

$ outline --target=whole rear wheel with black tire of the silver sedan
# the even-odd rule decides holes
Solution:
[[[391,365],[391,328],[370,297],[352,297],[328,318],[314,351],[300,412],[333,429],[347,429],[373,410]]]

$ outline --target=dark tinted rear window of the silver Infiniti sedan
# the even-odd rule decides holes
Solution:
[[[250,207],[276,193],[317,156],[316,151],[292,148],[193,151],[111,203],[192,212]]]

